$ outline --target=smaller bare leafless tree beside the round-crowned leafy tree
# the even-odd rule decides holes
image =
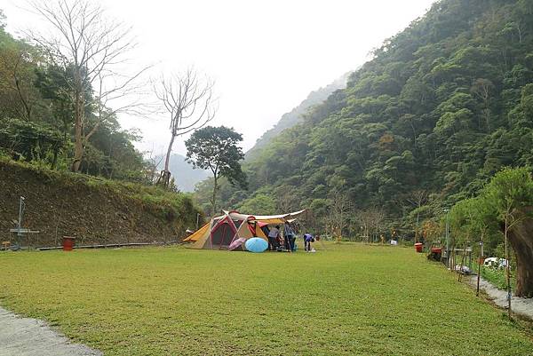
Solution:
[[[170,115],[171,131],[171,142],[157,184],[168,186],[171,180],[169,162],[175,138],[202,128],[215,116],[213,85],[211,79],[203,80],[191,67],[181,74],[162,75],[155,83],[155,96]]]

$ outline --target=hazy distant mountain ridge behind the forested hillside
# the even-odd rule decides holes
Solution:
[[[280,121],[276,123],[272,129],[266,131],[263,136],[258,138],[256,144],[246,152],[246,159],[251,160],[257,157],[261,149],[267,146],[268,143],[283,130],[290,129],[296,124],[302,123],[304,121],[304,115],[306,115],[312,107],[322,104],[325,99],[328,99],[333,91],[346,88],[346,81],[349,75],[349,73],[346,73],[333,81],[333,83],[316,91],[311,91],[309,95],[307,95],[307,98],[304,99],[298,107],[294,107],[290,112],[283,114]]]

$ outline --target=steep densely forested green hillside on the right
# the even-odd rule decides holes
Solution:
[[[532,81],[533,1],[437,2],[386,40],[346,90],[248,160],[250,190],[224,186],[224,206],[311,208],[328,216],[322,227],[349,209],[358,222],[337,227],[357,232],[373,211],[389,218],[376,224],[385,233],[412,227],[502,167],[533,162]]]

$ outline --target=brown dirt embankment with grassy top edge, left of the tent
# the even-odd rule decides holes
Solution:
[[[22,227],[40,231],[30,234],[32,246],[58,246],[62,236],[76,244],[172,241],[195,227],[197,210],[183,194],[0,161],[2,241],[16,240],[9,229],[20,196]]]

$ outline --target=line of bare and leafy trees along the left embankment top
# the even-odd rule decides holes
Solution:
[[[242,137],[233,129],[204,127],[216,114],[209,77],[190,67],[149,78],[152,66],[129,61],[137,47],[131,28],[99,4],[31,0],[28,6],[49,31],[28,29],[23,39],[14,38],[0,10],[0,155],[174,190],[169,170],[174,141],[203,128],[187,141],[194,147],[189,160],[203,169],[212,163],[215,180],[226,176],[244,184],[243,154],[236,146]],[[123,130],[118,115],[167,115],[171,139],[161,172],[153,154],[146,157],[135,148],[139,132]],[[206,135],[218,135],[218,153],[234,155],[217,155],[213,139],[209,151]]]

